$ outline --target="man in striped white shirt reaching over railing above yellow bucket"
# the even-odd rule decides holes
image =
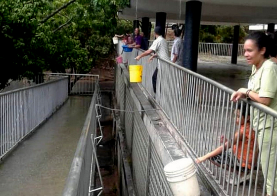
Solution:
[[[158,56],[161,59],[165,59],[170,61],[169,58],[169,50],[168,50],[168,43],[162,36],[162,28],[156,27],[154,30],[156,39],[153,41],[153,44],[150,46],[148,50],[141,53],[136,59],[139,61],[140,58],[155,52],[153,56],[149,58],[148,61],[151,61],[155,56]],[[159,65],[156,68],[153,76],[152,76],[152,83],[153,83],[153,91],[156,93],[156,84],[157,84],[157,74],[158,74]]]

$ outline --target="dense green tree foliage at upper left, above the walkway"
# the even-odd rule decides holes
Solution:
[[[129,0],[1,0],[0,89],[44,70],[88,73],[113,51],[112,37],[132,29],[117,18]],[[118,32],[119,31],[119,32]]]

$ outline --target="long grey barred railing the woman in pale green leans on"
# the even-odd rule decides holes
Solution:
[[[127,60],[130,64],[135,63],[134,56],[138,52],[141,53],[142,51],[134,49],[132,54],[129,55]],[[229,196],[260,196],[265,195],[266,192],[273,195],[274,189],[267,191],[267,183],[266,180],[263,180],[263,176],[265,179],[273,177],[273,180],[268,179],[268,181],[275,184],[277,171],[277,112],[262,104],[242,100],[240,104],[244,103],[246,109],[250,108],[250,111],[242,114],[241,108],[240,113],[237,114],[238,103],[230,101],[231,93],[234,92],[232,89],[163,59],[156,59],[148,64],[148,58],[149,56],[146,56],[136,62],[136,64],[143,65],[141,86],[150,95],[155,95],[157,104],[179,131],[180,136],[183,137],[191,150],[191,155],[195,158],[202,157],[219,147],[221,136],[223,136],[223,141],[229,141],[227,146],[223,147],[221,156],[223,157],[225,153],[229,152],[230,159],[227,159],[228,156],[222,158],[219,167],[209,160],[199,164],[198,168],[209,177],[208,180],[217,184],[218,189]],[[157,64],[159,65],[157,92],[154,94],[151,78]],[[120,79],[119,76],[117,76],[117,79]],[[120,85],[120,82],[118,85]],[[120,94],[120,96],[123,95]],[[243,132],[242,136],[240,135],[234,141],[235,134],[243,127],[240,125],[242,117],[247,117],[248,114],[251,117],[250,122],[245,120],[244,123],[250,124],[249,130],[246,130],[246,126],[244,126],[241,130]],[[235,118],[239,119],[238,124]],[[247,149],[244,149],[246,147],[242,145],[240,155],[238,150],[233,152],[232,147],[234,145],[238,146],[239,142],[244,144],[248,131],[249,135],[252,133],[255,135],[254,141],[252,140],[254,142],[253,149],[250,149],[251,140],[249,139]],[[144,138],[143,141],[147,141],[147,138],[146,140]],[[253,156],[251,162],[249,152],[251,150],[256,152],[258,144],[260,145],[259,153],[251,154]],[[229,148],[231,149],[229,150]],[[247,152],[246,155],[243,154],[243,149]],[[270,154],[271,156],[269,156]],[[242,160],[243,156],[245,156],[245,162]],[[231,161],[238,162],[238,166],[229,167]],[[224,162],[227,164],[224,164]],[[245,167],[242,162],[245,163]],[[261,162],[264,175],[260,169]],[[251,164],[247,167],[248,163]],[[242,180],[249,176],[250,179]],[[235,179],[241,181],[241,183],[234,185],[232,181]]]

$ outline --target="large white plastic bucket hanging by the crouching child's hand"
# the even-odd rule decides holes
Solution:
[[[174,196],[200,196],[196,168],[191,158],[181,158],[164,167]]]

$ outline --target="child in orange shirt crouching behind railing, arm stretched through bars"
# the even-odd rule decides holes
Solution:
[[[246,114],[246,104],[243,104],[242,107],[242,116],[241,116],[241,120],[239,120],[239,116],[240,116],[240,106],[237,109],[237,114],[236,114],[236,124],[239,127],[239,123],[240,123],[240,130],[235,132],[234,138],[233,138],[233,146],[232,146],[232,150],[233,150],[233,157],[231,160],[231,165],[230,164],[230,158],[231,158],[231,153],[228,153],[228,149],[227,147],[231,148],[231,141],[225,141],[225,144],[218,147],[217,149],[215,149],[214,151],[204,155],[203,157],[199,157],[195,160],[196,163],[201,163],[207,159],[209,159],[212,163],[214,163],[217,166],[221,165],[221,162],[223,162],[223,164],[225,164],[225,160],[226,160],[226,156],[227,156],[227,166],[231,166],[236,167],[236,169],[239,167],[239,162],[241,161],[241,178],[240,178],[240,182],[243,182],[244,180],[248,180],[250,179],[250,174],[249,172],[247,172],[247,176],[246,179],[244,178],[244,172],[246,169],[246,160],[247,160],[247,150],[248,150],[248,141],[250,140],[250,148],[249,148],[249,154],[248,154],[248,163],[247,163],[247,168],[249,169],[248,171],[251,170],[252,167],[252,161],[253,161],[253,151],[254,151],[254,141],[255,141],[255,131],[252,130],[250,131],[250,116],[249,116],[249,110],[247,112],[247,117],[246,117],[246,124],[245,123],[245,114]],[[249,108],[249,107],[248,107]],[[244,139],[244,143],[242,143],[243,141],[243,132],[244,132],[244,127],[246,127],[245,130],[245,139]],[[251,135],[250,135],[251,134]],[[237,142],[237,138],[239,137],[239,141],[238,144],[236,144]],[[221,143],[223,143],[223,139],[224,136],[221,136]],[[228,144],[229,143],[229,144]],[[225,153],[223,154],[222,157],[222,151],[225,151]],[[236,153],[236,149],[237,149],[237,161],[236,164],[233,163],[234,160],[234,156]],[[257,148],[256,148],[257,149]],[[243,154],[241,157],[241,151],[243,150]],[[257,152],[255,153],[255,159],[257,158]],[[255,164],[256,165],[256,164]],[[240,183],[239,182],[239,183]],[[233,179],[233,181],[230,182],[231,184],[237,184],[237,182],[235,182],[235,179]]]

